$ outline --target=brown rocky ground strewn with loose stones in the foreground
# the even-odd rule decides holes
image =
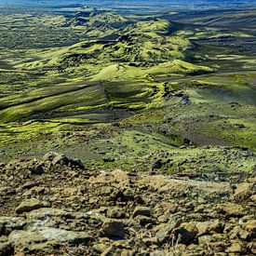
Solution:
[[[248,173],[90,170],[66,155],[0,164],[0,255],[255,255]]]

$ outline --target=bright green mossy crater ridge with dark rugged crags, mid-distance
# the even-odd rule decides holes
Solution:
[[[91,26],[97,27],[93,22]],[[22,63],[18,67],[29,70],[51,68],[68,74],[80,73],[88,79],[117,81],[145,78],[147,74],[210,72],[208,67],[174,61],[185,60],[187,50],[193,45],[181,36],[172,35],[172,26],[174,24],[168,20],[159,19],[133,22],[115,31],[115,39],[87,40],[57,51],[44,51],[39,56],[41,60]],[[128,74],[124,74],[122,67]],[[103,76],[108,75],[101,77],[101,72]]]

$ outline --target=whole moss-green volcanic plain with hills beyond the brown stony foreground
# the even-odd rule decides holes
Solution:
[[[253,20],[234,28],[222,11],[189,20],[160,9],[0,12],[2,159],[58,150],[99,168],[253,170]]]

